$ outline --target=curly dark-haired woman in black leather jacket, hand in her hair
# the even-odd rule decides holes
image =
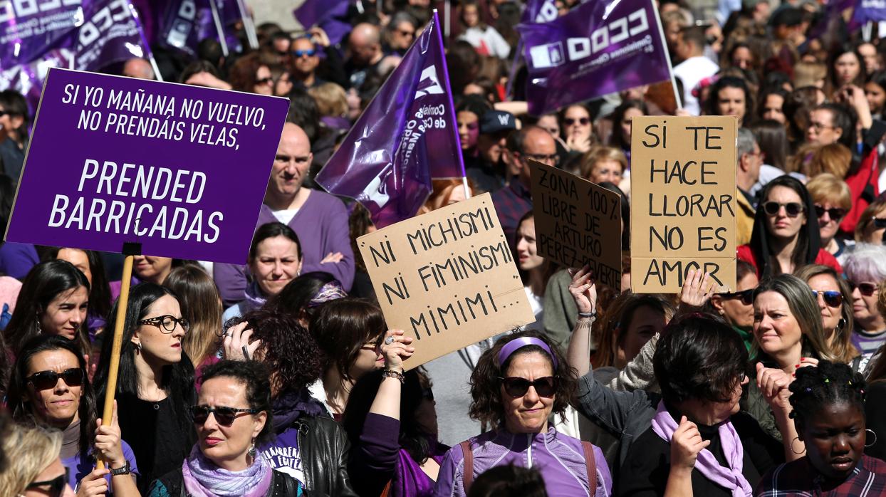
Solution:
[[[274,437],[259,447],[270,467],[299,480],[308,495],[353,496],[347,435],[308,390],[323,371],[323,353],[296,312],[264,308],[238,317],[225,331],[224,356],[253,358],[270,371]]]

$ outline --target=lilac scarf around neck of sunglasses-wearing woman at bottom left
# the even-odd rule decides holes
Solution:
[[[274,470],[261,454],[242,471],[222,470],[194,446],[182,464],[184,489],[195,497],[264,497],[274,481]]]

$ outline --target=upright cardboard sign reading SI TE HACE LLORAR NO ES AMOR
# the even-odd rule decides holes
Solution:
[[[735,135],[731,116],[631,123],[631,289],[678,292],[689,269],[735,289]]]

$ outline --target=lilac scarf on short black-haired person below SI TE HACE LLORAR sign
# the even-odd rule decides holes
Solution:
[[[652,431],[664,439],[665,442],[671,443],[673,432],[677,431],[677,422],[674,421],[672,415],[664,408],[664,401],[658,402],[658,412],[652,418]],[[719,425],[720,447],[723,447],[723,454],[729,463],[729,468],[719,465],[717,458],[710,450],[703,448],[698,453],[696,459],[696,470],[699,470],[704,478],[708,478],[712,482],[732,491],[733,497],[750,497],[753,489],[750,487],[748,480],[742,475],[742,466],[744,461],[744,448],[742,440],[738,439],[738,433],[732,425],[732,422],[726,421]]]

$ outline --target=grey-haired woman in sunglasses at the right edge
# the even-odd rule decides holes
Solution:
[[[886,246],[855,245],[846,258],[846,279],[851,287],[852,345],[862,356],[861,370],[886,340],[886,319],[878,307],[878,294],[886,279]]]

